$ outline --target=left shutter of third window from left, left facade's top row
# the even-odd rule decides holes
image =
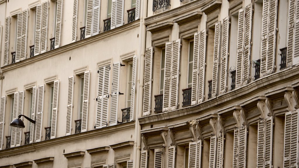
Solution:
[[[42,3],[42,32],[41,32],[41,42],[40,42],[40,53],[47,52],[47,42],[48,42],[48,16],[49,16],[49,2],[46,1]],[[58,13],[57,13],[58,15]]]

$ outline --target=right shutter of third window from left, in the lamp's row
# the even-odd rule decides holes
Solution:
[[[59,98],[59,80],[54,81],[53,91],[53,109],[51,123],[51,139],[56,138],[57,115],[58,115],[58,98]]]

